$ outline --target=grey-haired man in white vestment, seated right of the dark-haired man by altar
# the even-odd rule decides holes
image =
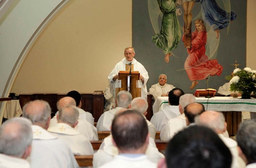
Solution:
[[[197,100],[193,94],[184,94],[179,98],[179,112],[181,115],[170,119],[163,127],[160,133],[160,139],[169,141],[178,131],[187,126],[184,108],[190,103],[195,103]],[[153,115],[154,116],[154,115]]]

